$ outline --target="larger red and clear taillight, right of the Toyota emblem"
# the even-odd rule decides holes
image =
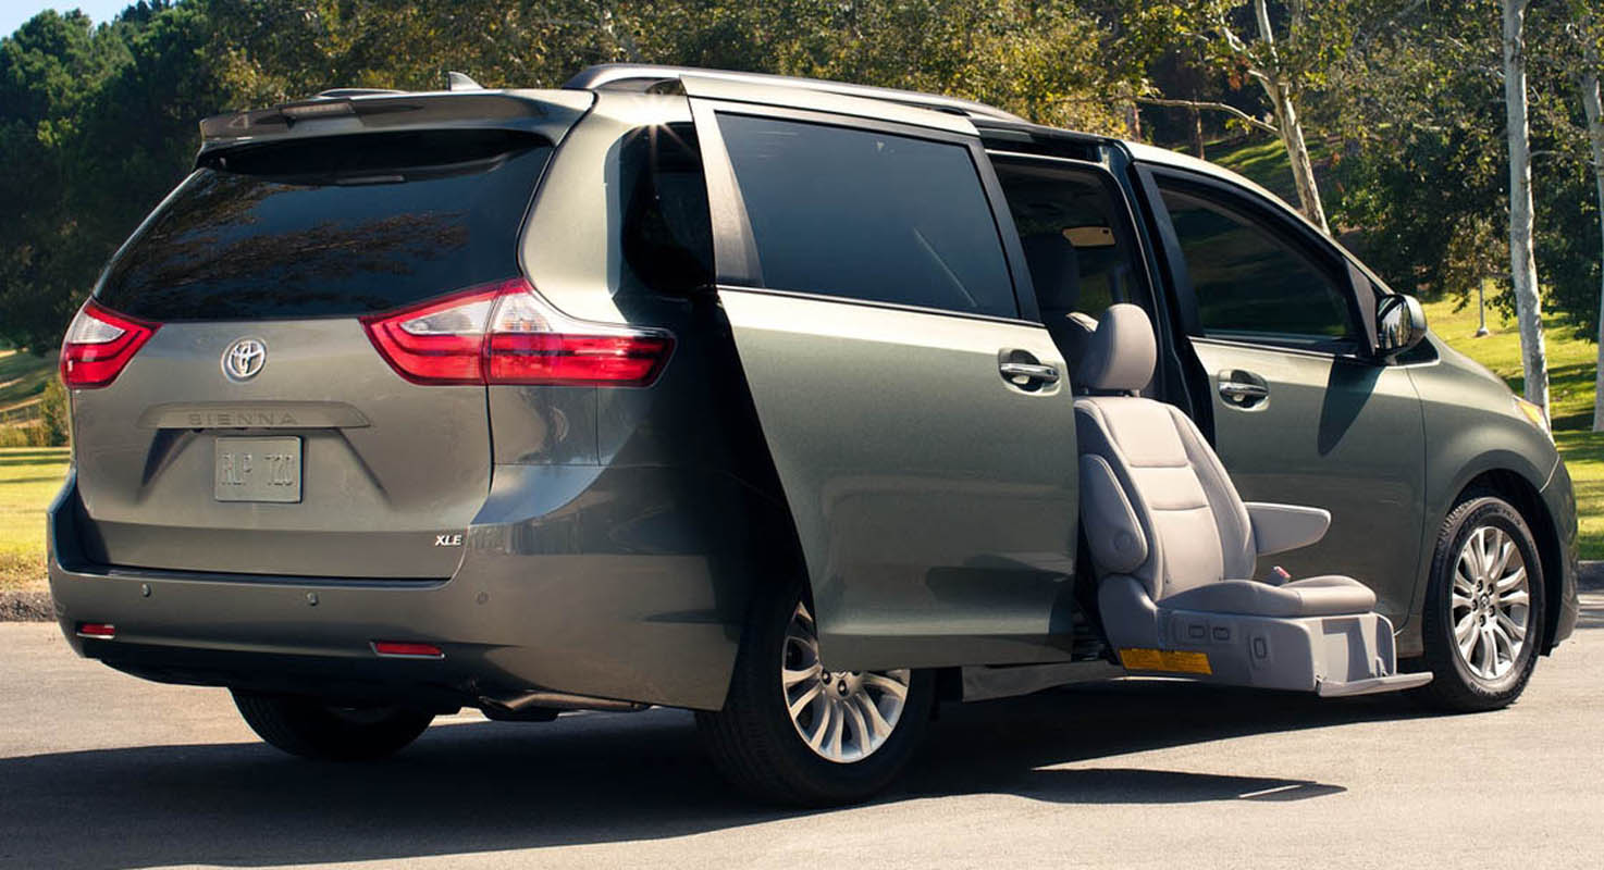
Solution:
[[[646,386],[674,351],[662,330],[574,320],[525,279],[363,319],[374,348],[412,383]]]

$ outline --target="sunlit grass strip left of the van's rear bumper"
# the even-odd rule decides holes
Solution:
[[[45,508],[66,473],[66,447],[0,449],[0,590],[45,582]]]

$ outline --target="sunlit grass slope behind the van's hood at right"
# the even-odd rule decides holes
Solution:
[[[1453,311],[1453,301],[1426,304],[1431,330],[1461,352],[1489,367],[1521,393],[1521,333],[1514,320],[1487,311],[1490,335],[1476,338],[1476,304]],[[1577,487],[1577,516],[1582,524],[1582,558],[1604,559],[1604,433],[1593,431],[1593,372],[1598,346],[1574,338],[1569,327],[1549,320],[1548,394],[1554,420],[1554,444]]]

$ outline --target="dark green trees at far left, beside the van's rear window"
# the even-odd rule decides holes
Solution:
[[[95,276],[188,171],[217,103],[199,6],[109,26],[45,11],[0,40],[0,336],[53,349]]]

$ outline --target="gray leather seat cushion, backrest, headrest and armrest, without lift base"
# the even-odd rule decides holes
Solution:
[[[1153,328],[1115,304],[1088,344],[1078,388],[1131,393],[1148,383]],[[1160,607],[1264,617],[1363,614],[1368,586],[1347,577],[1285,585],[1254,580],[1259,556],[1320,540],[1318,508],[1243,503],[1219,457],[1187,415],[1128,394],[1075,401],[1081,505],[1099,577],[1140,583]]]

